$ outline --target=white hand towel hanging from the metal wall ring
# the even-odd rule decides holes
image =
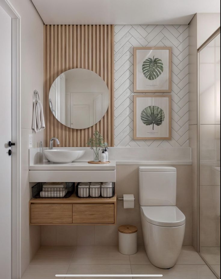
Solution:
[[[43,112],[43,106],[41,101],[34,101],[33,106],[33,118],[32,118],[32,129],[35,132],[39,132],[45,129],[45,118]]]

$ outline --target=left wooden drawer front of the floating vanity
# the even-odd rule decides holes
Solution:
[[[70,224],[72,204],[31,204],[31,224]]]

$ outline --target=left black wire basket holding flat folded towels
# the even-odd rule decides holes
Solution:
[[[45,182],[38,182],[32,187],[33,198],[69,198],[75,191],[74,182],[66,182],[66,187],[43,188]]]

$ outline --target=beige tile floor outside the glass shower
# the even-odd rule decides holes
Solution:
[[[65,278],[55,277],[55,274],[163,274],[163,279],[216,278],[192,246],[183,246],[176,265],[170,269],[152,265],[143,246],[138,246],[138,252],[130,256],[119,253],[117,246],[41,246],[22,279]],[[69,278],[72,277],[66,277]]]

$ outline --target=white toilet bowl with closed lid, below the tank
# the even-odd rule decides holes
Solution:
[[[176,206],[140,206],[146,253],[159,268],[171,268],[180,254],[185,216]]]

